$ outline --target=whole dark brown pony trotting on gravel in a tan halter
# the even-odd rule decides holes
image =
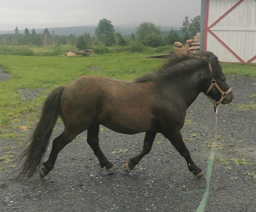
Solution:
[[[146,132],[142,151],[125,164],[127,172],[148,154],[159,132],[185,158],[190,172],[200,177],[203,172],[190,157],[180,129],[186,109],[201,92],[207,92],[210,98],[222,104],[232,101],[233,94],[225,79],[218,58],[211,52],[200,52],[171,58],[160,70],[133,82],[82,76],[67,86],[58,87],[46,98],[31,143],[20,156],[25,162],[19,177],[30,177],[38,169],[58,116],[62,117],[65,128],[53,140],[50,156],[40,169],[41,178],[52,170],[60,150],[85,130],[87,142],[100,166],[114,171],[99,146],[100,124],[124,134]]]

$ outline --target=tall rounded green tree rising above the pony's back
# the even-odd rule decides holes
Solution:
[[[111,21],[103,18],[98,23],[94,34],[106,46],[111,46],[114,43],[114,32],[114,26],[111,24]]]

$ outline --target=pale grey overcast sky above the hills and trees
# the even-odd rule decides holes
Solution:
[[[114,26],[148,21],[180,27],[200,8],[201,0],[2,0],[0,31],[97,25],[102,18]]]

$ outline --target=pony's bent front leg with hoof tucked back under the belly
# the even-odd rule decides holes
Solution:
[[[129,173],[131,170],[133,170],[134,166],[140,162],[140,160],[150,152],[152,144],[154,142],[156,136],[156,132],[146,132],[144,137],[144,144],[141,152],[137,154],[134,158],[131,158],[128,160],[124,166],[126,171]]]

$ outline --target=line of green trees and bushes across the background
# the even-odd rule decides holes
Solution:
[[[186,16],[180,29],[182,34],[179,34],[177,30],[172,28],[168,34],[163,35],[160,26],[156,26],[152,22],[142,22],[136,28],[136,31],[132,32],[130,37],[123,38],[120,32],[115,31],[112,22],[103,18],[98,22],[94,36],[91,36],[89,33],[84,33],[80,36],[75,36],[74,34],[60,36],[54,34],[54,31],[49,32],[48,28],[45,28],[44,32],[40,34],[37,34],[34,28],[31,32],[26,28],[24,33],[19,33],[16,26],[13,34],[0,35],[0,45],[43,46],[58,43],[76,46],[81,50],[90,46],[126,46],[130,42],[140,42],[144,46],[159,47],[172,45],[176,41],[185,43],[186,40],[192,38],[196,32],[200,31],[200,16],[196,16],[190,21],[188,16]]]

